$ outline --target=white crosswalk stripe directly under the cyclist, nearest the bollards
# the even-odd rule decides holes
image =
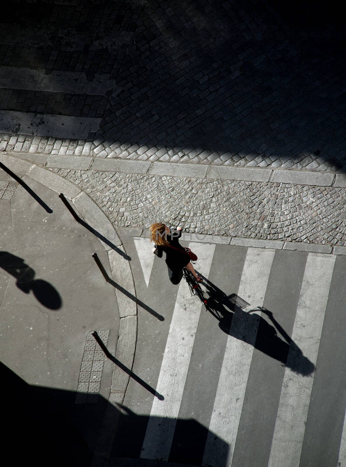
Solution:
[[[197,270],[208,277],[215,245],[191,243],[189,248],[199,258]],[[165,400],[153,400],[141,458],[168,460],[201,307],[182,280],[156,387]]]

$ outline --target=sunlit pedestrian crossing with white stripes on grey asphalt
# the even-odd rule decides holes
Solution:
[[[345,351],[327,385],[318,362],[319,348],[326,354],[333,345],[331,335],[345,347],[346,258],[186,246],[199,258],[195,269],[206,278],[215,315],[190,296],[184,280],[169,283],[166,264],[152,260],[147,239],[128,241],[138,298],[165,316],[156,323],[138,309],[134,368],[164,400],[130,382],[124,405],[141,413],[141,428],[133,439],[131,423],[120,424],[112,455],[213,467],[345,467]],[[156,364],[145,357],[148,344],[157,348]],[[332,413],[317,399],[330,400]],[[311,437],[328,424],[325,446],[311,452]]]

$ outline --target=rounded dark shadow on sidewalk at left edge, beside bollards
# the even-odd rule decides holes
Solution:
[[[28,294],[32,290],[37,300],[46,308],[50,310],[61,308],[62,299],[53,285],[43,279],[34,279],[34,269],[25,264],[19,256],[7,251],[0,251],[0,268],[15,277],[16,286],[22,292]]]

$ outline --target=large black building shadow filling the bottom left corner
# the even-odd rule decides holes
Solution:
[[[149,420],[147,415],[138,416],[122,405],[115,407],[102,396],[98,396],[97,403],[76,404],[74,391],[31,386],[2,363],[0,373],[6,401],[3,409],[6,429],[2,440],[4,446],[13,446],[15,433],[20,437],[20,448],[15,452],[16,464],[25,465],[28,457],[33,456],[39,467],[47,464],[90,466],[96,450],[94,462],[99,466],[107,464],[110,454],[109,467],[126,466],[131,460],[131,466],[146,465],[147,461],[140,460],[139,456]],[[168,421],[175,424],[175,420]],[[162,422],[167,419],[162,418]],[[195,420],[182,422],[187,441],[190,430],[203,433],[200,440],[195,439],[203,452],[208,430]],[[215,436],[216,445],[227,454],[228,445]],[[192,448],[185,442],[175,457],[187,464]],[[199,464],[197,457],[191,460],[193,465]],[[155,465],[164,467],[166,463],[157,461]],[[217,467],[225,465],[221,462]]]

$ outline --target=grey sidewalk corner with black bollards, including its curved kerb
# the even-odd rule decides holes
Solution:
[[[131,370],[136,303],[134,296],[124,296],[126,290],[117,288],[119,275],[131,279],[129,261],[117,234],[110,236],[103,212],[85,193],[25,161],[11,163],[8,159],[7,168],[21,176],[21,183],[0,170],[0,354],[5,365],[1,367],[4,383],[9,385],[9,394],[15,387],[19,397],[29,398],[30,404],[34,394],[41,394],[35,417],[44,419],[48,431],[52,421],[46,419],[43,399],[55,400],[53,417],[60,416],[62,410],[73,418],[72,423],[80,428],[77,438],[93,453],[106,401],[115,397],[121,402],[129,375],[105,358],[91,333],[96,330],[110,353]],[[59,192],[67,198],[77,197],[74,209],[96,230],[95,235],[73,219]],[[97,234],[104,238],[103,233],[108,233],[111,241],[97,238]],[[104,280],[93,253],[115,282]],[[126,280],[121,283],[128,285]],[[133,293],[133,285],[129,288]],[[123,310],[120,313],[117,295]],[[39,393],[28,389],[34,387]],[[65,402],[60,405],[62,399]],[[18,409],[16,402],[13,409]],[[25,416],[22,421],[25,425]]]

